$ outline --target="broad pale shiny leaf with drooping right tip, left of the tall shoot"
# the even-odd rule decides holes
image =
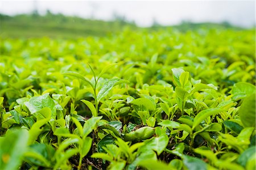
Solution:
[[[51,115],[56,116],[56,107],[53,99],[49,96],[49,93],[43,94],[42,96],[31,97],[28,102],[24,105],[30,110],[31,114],[34,114],[44,107],[51,109]]]

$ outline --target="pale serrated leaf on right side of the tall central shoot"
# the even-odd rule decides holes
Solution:
[[[128,82],[129,81],[122,80],[120,78],[112,78],[106,81],[102,86],[100,92],[98,92],[97,101],[100,101],[102,97],[105,97],[114,86],[122,83],[128,83]]]

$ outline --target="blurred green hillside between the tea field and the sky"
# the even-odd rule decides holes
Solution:
[[[149,29],[151,31],[173,28],[180,32],[197,30],[199,28],[235,29],[229,23],[191,23],[183,22],[177,26],[161,26],[153,24],[152,27],[140,28],[133,22],[127,22],[123,18],[113,21],[83,19],[77,16],[65,16],[63,14],[46,15],[21,14],[8,16],[0,14],[0,38],[35,38],[48,36],[51,38],[76,39],[85,36],[106,36],[117,33],[123,28],[131,30]]]

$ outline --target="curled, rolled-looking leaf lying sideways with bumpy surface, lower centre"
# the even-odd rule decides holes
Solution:
[[[131,131],[128,134],[125,134],[123,136],[123,139],[125,139],[126,141],[141,141],[143,139],[150,138],[154,134],[155,134],[154,128],[145,126],[145,127],[138,128],[135,131]]]

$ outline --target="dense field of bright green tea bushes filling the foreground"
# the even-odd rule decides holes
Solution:
[[[0,169],[255,169],[254,34],[2,39]]]

